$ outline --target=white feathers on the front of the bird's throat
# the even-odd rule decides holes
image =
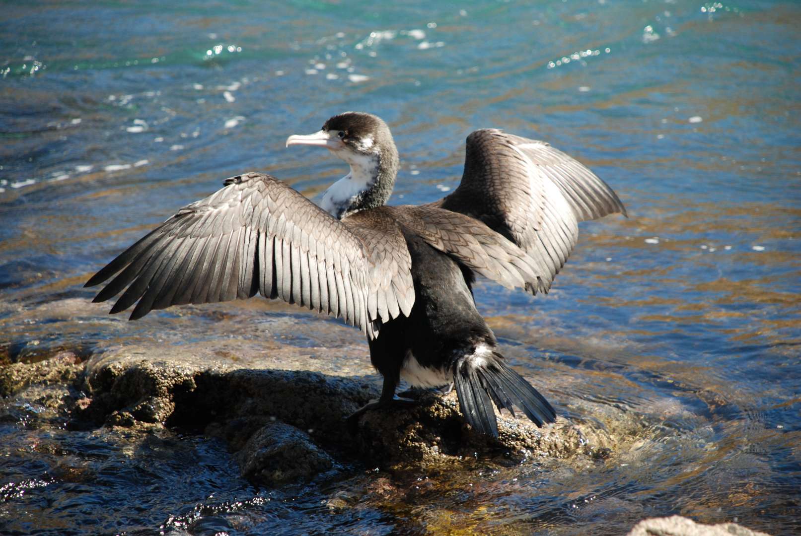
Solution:
[[[371,140],[372,141],[372,140]],[[364,194],[375,186],[378,179],[380,158],[378,154],[360,154],[349,150],[337,151],[336,156],[350,165],[350,173],[328,186],[320,208],[334,218],[342,219],[352,212],[364,197]]]

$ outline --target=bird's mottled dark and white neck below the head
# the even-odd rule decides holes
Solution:
[[[320,208],[342,219],[384,205],[392,195],[397,174],[397,154],[348,154],[343,158],[350,173],[325,190]]]

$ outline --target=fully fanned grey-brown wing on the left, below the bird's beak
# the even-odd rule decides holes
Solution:
[[[86,286],[117,274],[95,302],[125,289],[111,313],[136,303],[132,320],[154,309],[259,292],[333,314],[374,336],[381,322],[408,315],[414,302],[409,250],[391,223],[376,236],[270,175],[248,173],[183,207]],[[376,240],[380,250],[372,247]]]

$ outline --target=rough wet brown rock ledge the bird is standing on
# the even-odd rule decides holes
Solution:
[[[264,481],[263,470],[271,471],[259,467],[270,457],[253,451],[279,453],[292,446],[308,451],[314,458],[310,467],[320,472],[332,466],[322,461],[328,456],[382,467],[461,458],[506,464],[525,458],[592,460],[617,442],[606,430],[564,418],[539,429],[508,413],[499,418],[499,438],[489,438],[465,424],[455,392],[423,394],[418,406],[368,411],[349,427],[345,418],[378,396],[375,377],[241,368],[230,360],[199,359],[175,349],[161,357],[151,351],[129,347],[88,360],[80,381],[91,402],[84,400],[76,408],[70,426],[205,430],[239,452],[239,461],[247,466],[243,473],[256,481]],[[282,442],[287,446],[280,446]],[[310,478],[314,472],[299,470],[297,476]]]

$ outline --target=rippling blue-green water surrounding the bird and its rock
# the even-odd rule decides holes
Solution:
[[[229,336],[203,314],[106,318],[81,283],[233,174],[268,170],[320,194],[342,166],[285,150],[285,138],[365,110],[399,146],[394,203],[453,189],[462,140],[485,126],[547,140],[618,191],[630,219],[584,224],[547,297],[484,284],[477,299],[523,370],[570,376],[572,396],[643,415],[629,451],[586,470],[356,468],[344,482],[257,490],[206,438],[67,432],[63,416],[8,400],[0,532],[622,534],[665,514],[801,531],[797,2],[0,9],[0,343],[11,358]],[[362,344],[344,327],[317,336],[320,319],[288,307],[230,310],[264,322],[268,342],[285,333],[265,318],[293,314],[309,335],[290,344]],[[362,503],[366,482],[405,501],[372,490]],[[349,507],[328,506],[340,496]]]

